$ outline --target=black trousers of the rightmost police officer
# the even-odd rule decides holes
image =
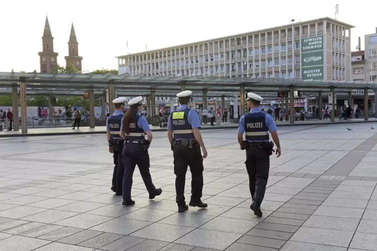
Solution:
[[[266,149],[249,146],[246,150],[246,170],[249,174],[251,197],[260,205],[264,198],[270,169],[270,155]]]

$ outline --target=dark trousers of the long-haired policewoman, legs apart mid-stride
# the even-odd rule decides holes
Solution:
[[[136,165],[139,167],[141,177],[149,194],[155,194],[156,187],[152,182],[151,173],[149,172],[149,153],[143,150],[142,144],[126,143],[123,146],[123,164],[123,199],[131,199],[132,176]]]

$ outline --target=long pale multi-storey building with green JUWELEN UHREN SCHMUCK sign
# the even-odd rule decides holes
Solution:
[[[350,80],[352,25],[325,17],[118,56],[119,74]]]

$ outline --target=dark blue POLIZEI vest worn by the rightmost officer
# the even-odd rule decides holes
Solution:
[[[260,111],[245,115],[245,138],[251,141],[269,140],[266,113]]]

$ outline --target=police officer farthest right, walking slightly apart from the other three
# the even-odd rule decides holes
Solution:
[[[247,93],[249,113],[242,115],[239,121],[237,139],[241,149],[246,149],[246,170],[249,174],[249,188],[252,197],[250,208],[257,216],[262,216],[260,204],[266,191],[268,172],[270,168],[270,155],[273,143],[269,140],[268,131],[271,132],[276,144],[277,157],[281,154],[279,137],[276,124],[270,114],[262,112],[259,108],[263,98],[255,93]],[[245,139],[243,140],[243,132]]]

